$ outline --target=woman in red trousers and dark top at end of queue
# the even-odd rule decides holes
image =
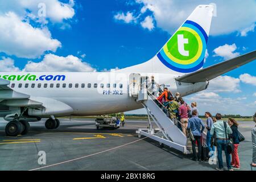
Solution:
[[[232,151],[231,166],[233,169],[240,169],[240,162],[239,162],[239,156],[238,156],[238,146],[240,143],[238,139],[238,123],[233,118],[229,118],[228,123],[232,130],[231,138],[233,140],[233,145],[234,145],[234,150]]]

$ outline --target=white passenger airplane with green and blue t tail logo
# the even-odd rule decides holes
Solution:
[[[199,5],[152,59],[110,72],[2,72],[0,117],[6,135],[25,135],[29,122],[57,117],[103,115],[143,108],[131,88],[154,76],[159,85],[182,97],[207,89],[209,81],[256,59],[256,51],[203,68],[213,6]],[[134,86],[135,85],[135,86]]]

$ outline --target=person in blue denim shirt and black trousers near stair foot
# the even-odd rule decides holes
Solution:
[[[192,160],[199,160],[201,161],[201,135],[204,131],[204,123],[202,119],[197,117],[197,111],[192,111],[192,118],[188,119],[188,130],[190,129],[192,131],[194,140],[191,140],[192,142],[192,150],[193,150],[193,159]],[[196,154],[196,142],[198,147],[198,155]]]

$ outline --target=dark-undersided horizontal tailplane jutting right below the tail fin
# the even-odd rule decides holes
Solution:
[[[233,59],[223,61],[212,65],[208,68],[200,69],[199,71],[189,73],[180,77],[175,78],[180,82],[195,83],[212,80],[226,72],[232,71],[244,64],[250,63],[256,59],[256,51],[246,53],[244,55],[235,57]]]

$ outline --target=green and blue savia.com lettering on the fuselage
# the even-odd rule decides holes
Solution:
[[[0,75],[0,78],[10,81],[64,81],[65,75],[31,75],[30,73],[25,75]]]

